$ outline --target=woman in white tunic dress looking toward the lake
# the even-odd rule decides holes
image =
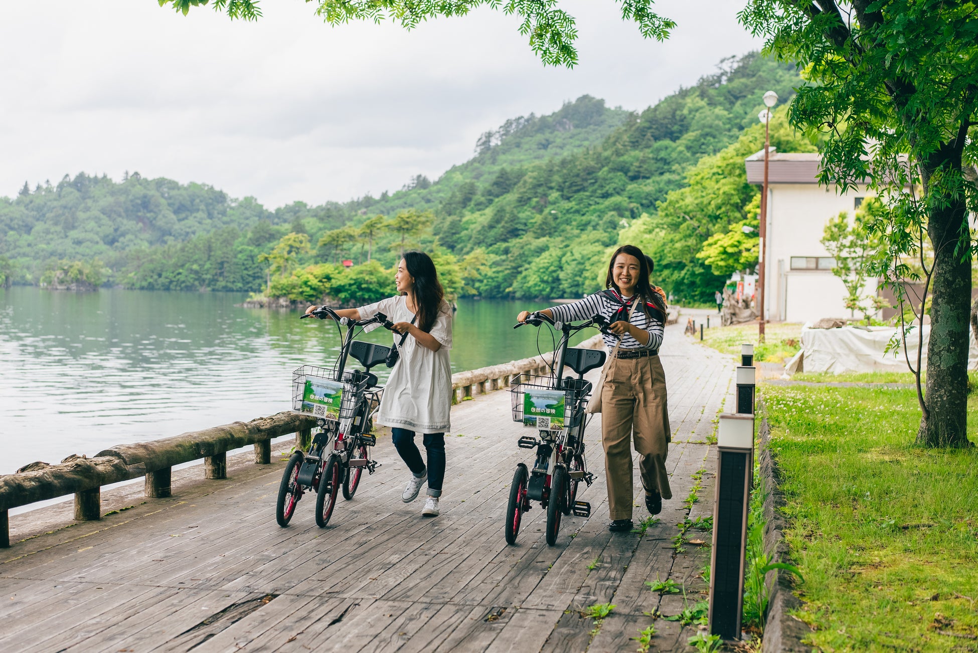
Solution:
[[[422,515],[434,517],[445,478],[445,432],[451,428],[452,308],[445,301],[431,257],[423,252],[404,254],[394,283],[396,296],[336,313],[354,320],[369,320],[383,313],[394,323],[400,360],[384,386],[377,421],[391,427],[394,447],[411,470],[401,499],[405,503],[415,501],[426,480],[427,501]],[[306,313],[316,308],[310,306]],[[427,464],[415,444],[416,432],[423,434]]]

